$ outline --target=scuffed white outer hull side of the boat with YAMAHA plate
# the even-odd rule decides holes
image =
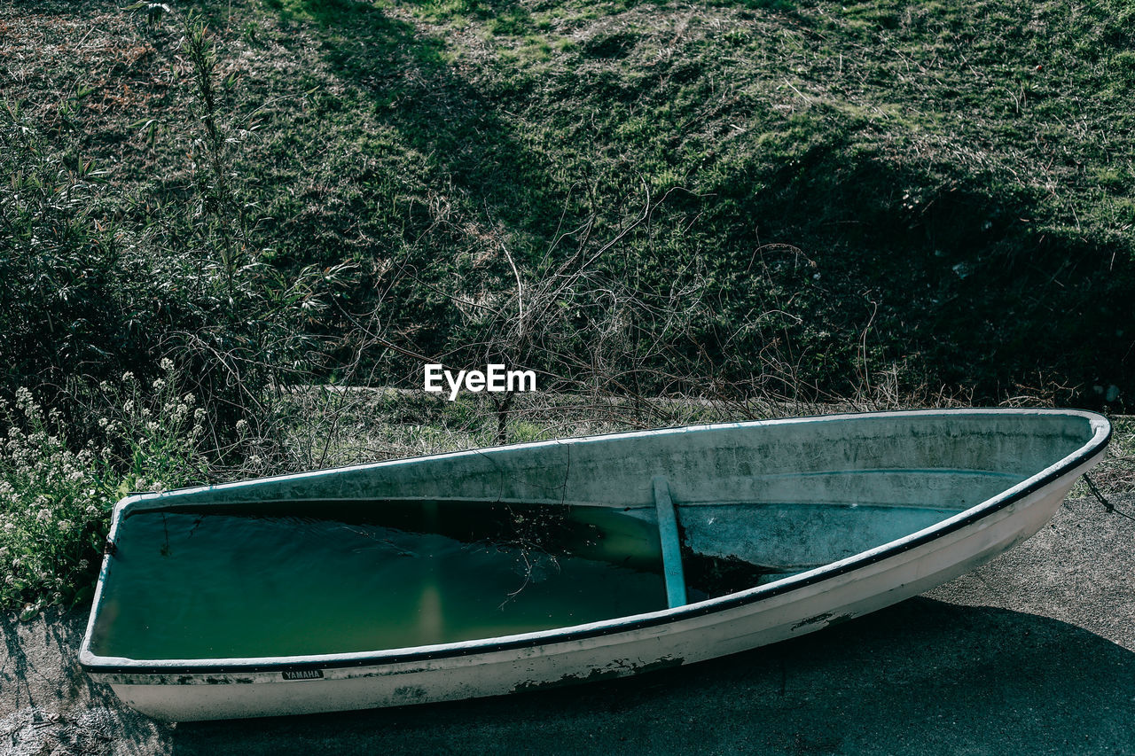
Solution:
[[[1078,476],[1102,454],[1100,445],[1008,505],[978,514],[974,512],[980,506],[967,510],[958,518],[972,521],[933,537],[914,534],[906,547],[892,543],[741,594],[628,618],[625,628],[608,622],[573,628],[563,639],[518,636],[503,639],[502,647],[469,644],[435,658],[429,649],[412,649],[403,658],[372,654],[322,662],[275,660],[270,669],[238,660],[197,671],[176,664],[144,672],[95,666],[92,677],[150,716],[192,721],[494,696],[689,664],[813,632],[973,570],[1042,528]]]

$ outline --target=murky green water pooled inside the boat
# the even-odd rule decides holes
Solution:
[[[555,510],[373,502],[138,512],[120,524],[92,650],[137,660],[368,652],[666,607],[653,523]]]

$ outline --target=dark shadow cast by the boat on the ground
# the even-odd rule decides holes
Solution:
[[[689,667],[507,698],[179,724],[177,754],[1130,753],[1135,653],[914,598]]]

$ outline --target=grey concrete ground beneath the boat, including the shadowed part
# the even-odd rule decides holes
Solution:
[[[1135,754],[1135,497],[1113,503],[1066,502],[985,568],[798,640],[465,703],[159,724],[78,670],[85,612],[8,616],[0,751]]]

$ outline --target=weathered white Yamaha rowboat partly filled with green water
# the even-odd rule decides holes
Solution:
[[[1100,461],[1076,410],[526,443],[132,495],[79,661],[194,721],[539,690],[735,654],[960,576]]]

